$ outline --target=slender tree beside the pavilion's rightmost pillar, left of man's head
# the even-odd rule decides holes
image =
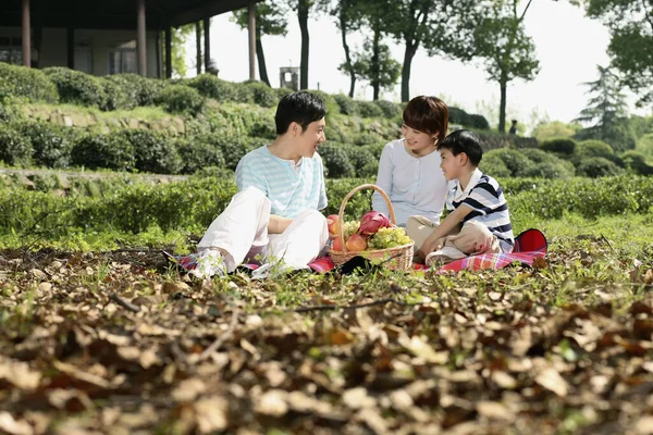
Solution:
[[[268,0],[267,2],[256,3],[256,59],[259,67],[259,77],[268,86],[270,79],[268,77],[268,69],[266,66],[266,54],[263,52],[263,44],[261,37],[285,36],[287,34],[287,7],[285,2]],[[247,9],[234,11],[234,21],[241,28],[247,28]]]

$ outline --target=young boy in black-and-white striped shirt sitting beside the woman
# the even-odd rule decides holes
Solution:
[[[478,137],[459,129],[438,145],[440,167],[454,182],[454,210],[435,227],[415,254],[427,264],[451,262],[470,254],[510,252],[515,244],[508,206],[496,181],[479,169],[483,157]]]

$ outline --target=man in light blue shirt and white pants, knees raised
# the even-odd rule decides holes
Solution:
[[[250,151],[236,166],[238,192],[197,245],[197,277],[233,272],[260,256],[255,277],[274,265],[304,269],[326,244],[324,170],[317,153],[324,137],[326,107],[300,91],[279,102],[276,139]]]

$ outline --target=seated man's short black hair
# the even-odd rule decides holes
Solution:
[[[305,132],[310,123],[320,121],[325,115],[326,104],[317,95],[305,90],[288,94],[276,105],[276,134],[285,134],[293,122],[301,125],[301,132]]]

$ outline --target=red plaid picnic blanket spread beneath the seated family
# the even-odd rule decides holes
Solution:
[[[451,262],[438,270],[438,273],[445,273],[447,271],[459,272],[463,270],[480,270],[480,269],[502,269],[513,262],[520,262],[528,265],[533,265],[533,262],[538,258],[544,258],[546,254],[547,244],[544,234],[539,229],[527,229],[519,234],[515,238],[515,249],[510,253],[483,253],[480,256],[466,257],[460,260]],[[180,268],[192,271],[197,268],[197,254],[190,253],[188,256],[175,256],[163,251],[163,254],[173,263]],[[347,268],[347,263],[341,265],[341,270],[349,271],[355,269],[354,265],[358,265],[367,260],[362,257],[355,257],[349,262],[352,266]],[[308,266],[318,273],[328,273],[335,269],[331,257],[320,257],[308,264]],[[245,270],[254,271],[259,268],[258,264],[242,264],[241,268]],[[426,264],[414,264],[414,270],[427,270],[429,266]]]

